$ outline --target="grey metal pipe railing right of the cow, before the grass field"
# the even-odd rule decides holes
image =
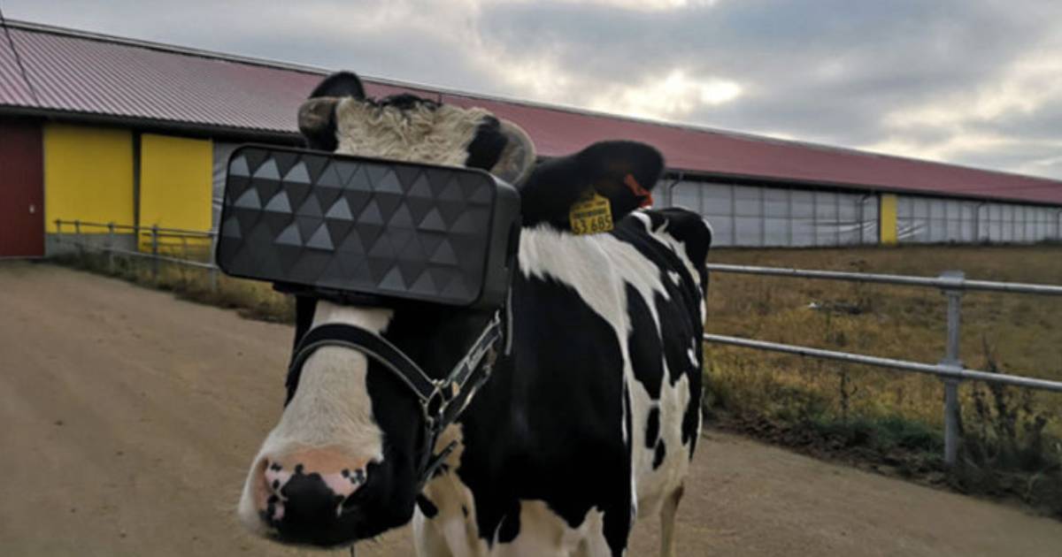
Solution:
[[[1023,376],[992,373],[977,369],[966,369],[959,360],[959,333],[962,315],[962,293],[965,291],[1006,292],[1013,294],[1042,294],[1062,296],[1062,286],[1051,284],[1025,284],[1020,282],[994,282],[989,280],[967,280],[961,271],[947,271],[939,277],[912,277],[906,275],[879,275],[870,273],[847,273],[840,271],[810,271],[801,268],[761,267],[750,265],[726,265],[709,263],[709,272],[761,275],[772,277],[842,280],[851,282],[875,282],[908,286],[936,288],[947,297],[947,337],[943,360],[938,364],[925,364],[907,360],[894,360],[866,354],[854,354],[835,350],[823,350],[807,346],[794,346],[738,336],[705,334],[709,343],[740,346],[757,350],[835,360],[853,364],[864,364],[918,373],[928,373],[944,382],[944,463],[954,465],[959,450],[959,383],[961,381],[987,381],[1024,388],[1062,391],[1062,382]]]

